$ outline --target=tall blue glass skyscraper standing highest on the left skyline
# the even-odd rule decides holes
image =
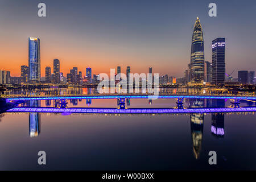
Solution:
[[[38,82],[41,79],[40,39],[28,38],[28,81]]]

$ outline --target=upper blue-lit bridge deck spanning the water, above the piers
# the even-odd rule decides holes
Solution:
[[[86,96],[13,96],[5,97],[6,101],[27,101],[27,100],[60,100],[60,99],[117,99],[117,98],[205,98],[205,99],[238,99],[238,100],[256,100],[256,96],[208,96],[208,95],[86,95]]]

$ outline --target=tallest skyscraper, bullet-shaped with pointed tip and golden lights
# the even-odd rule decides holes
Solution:
[[[193,28],[191,44],[191,82],[201,83],[204,80],[204,38],[199,18]]]

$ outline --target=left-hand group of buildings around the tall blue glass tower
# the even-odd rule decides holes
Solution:
[[[60,60],[53,60],[53,72],[51,67],[46,67],[46,75],[44,79],[41,78],[40,68],[40,39],[28,38],[28,66],[22,65],[20,67],[20,77],[11,77],[10,71],[0,71],[0,84],[33,84],[33,83],[69,83],[82,84],[83,82],[92,83],[97,81],[97,76],[92,78],[92,68],[86,68],[86,76],[82,78],[82,72],[77,67],[73,67],[67,77],[60,72]]]

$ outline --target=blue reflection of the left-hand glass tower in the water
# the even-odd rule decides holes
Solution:
[[[30,101],[31,107],[40,107],[40,101]],[[29,115],[29,134],[30,137],[38,137],[40,134],[40,113],[30,113]]]

